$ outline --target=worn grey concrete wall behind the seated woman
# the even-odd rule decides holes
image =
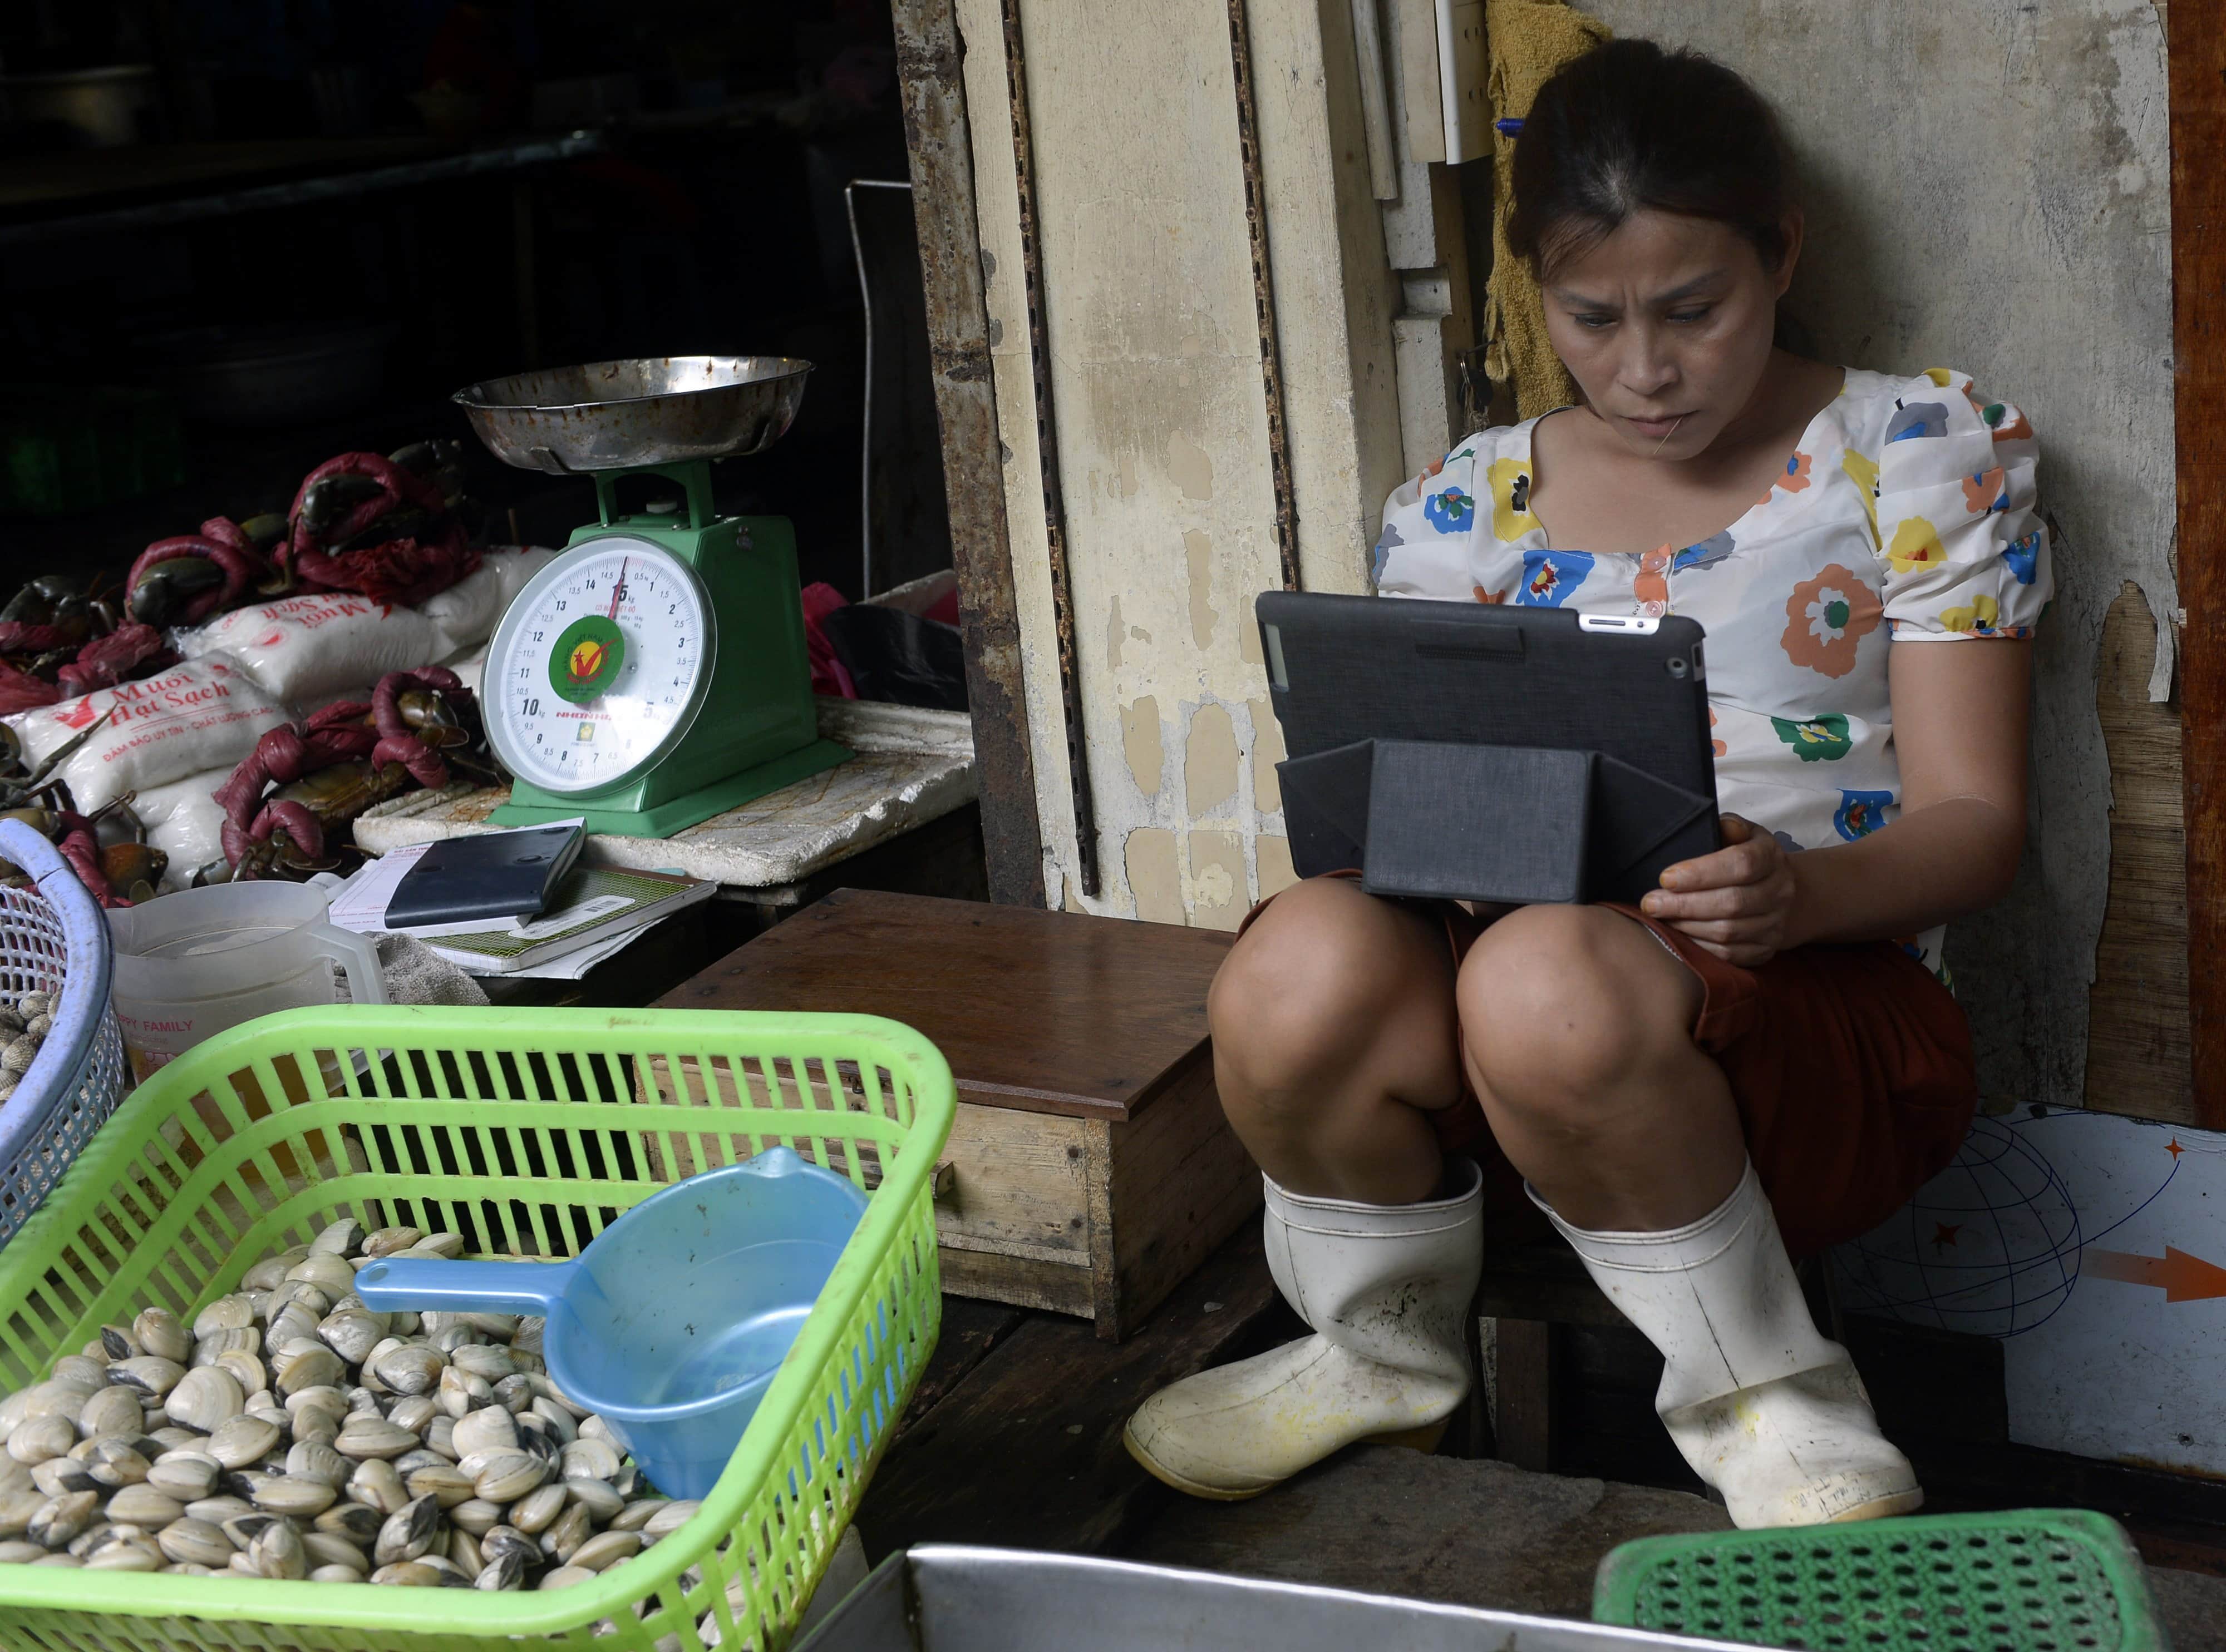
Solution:
[[[1779,107],[1808,187],[1792,303],[1825,356],[1961,367],[2041,434],[2057,601],[2037,646],[2032,848],[2017,897],[1950,933],[1990,1095],[2077,1107],[2110,882],[2095,710],[2135,581],[2173,675],[2173,307],[2164,24],[2150,0],[1592,0]],[[2130,1111],[2170,1113],[2170,1098]]]

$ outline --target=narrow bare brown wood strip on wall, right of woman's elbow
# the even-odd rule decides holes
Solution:
[[[2086,1104],[2195,1122],[2188,833],[2179,712],[2148,697],[2157,621],[2128,581],[2101,628],[2095,712],[2110,753],[2110,902],[2088,991]]]

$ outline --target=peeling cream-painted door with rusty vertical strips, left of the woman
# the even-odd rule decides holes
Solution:
[[[1251,603],[1365,590],[1451,434],[1458,191],[1362,98],[1371,4],[955,0],[1055,906],[1233,928],[1291,882]]]

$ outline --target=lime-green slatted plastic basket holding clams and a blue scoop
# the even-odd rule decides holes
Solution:
[[[768,1147],[873,1200],[719,1485],[641,1556],[530,1594],[0,1565],[0,1648],[777,1652],[935,1347],[933,1169],[955,1107],[935,1046],[870,1015],[343,1006],[200,1044],[0,1251],[0,1387],[147,1302],[191,1316],[341,1216],[568,1256],[659,1187]]]

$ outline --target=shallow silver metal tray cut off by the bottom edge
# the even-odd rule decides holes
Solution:
[[[792,1652],[1705,1652],[1654,1630],[1075,1554],[893,1554]]]

